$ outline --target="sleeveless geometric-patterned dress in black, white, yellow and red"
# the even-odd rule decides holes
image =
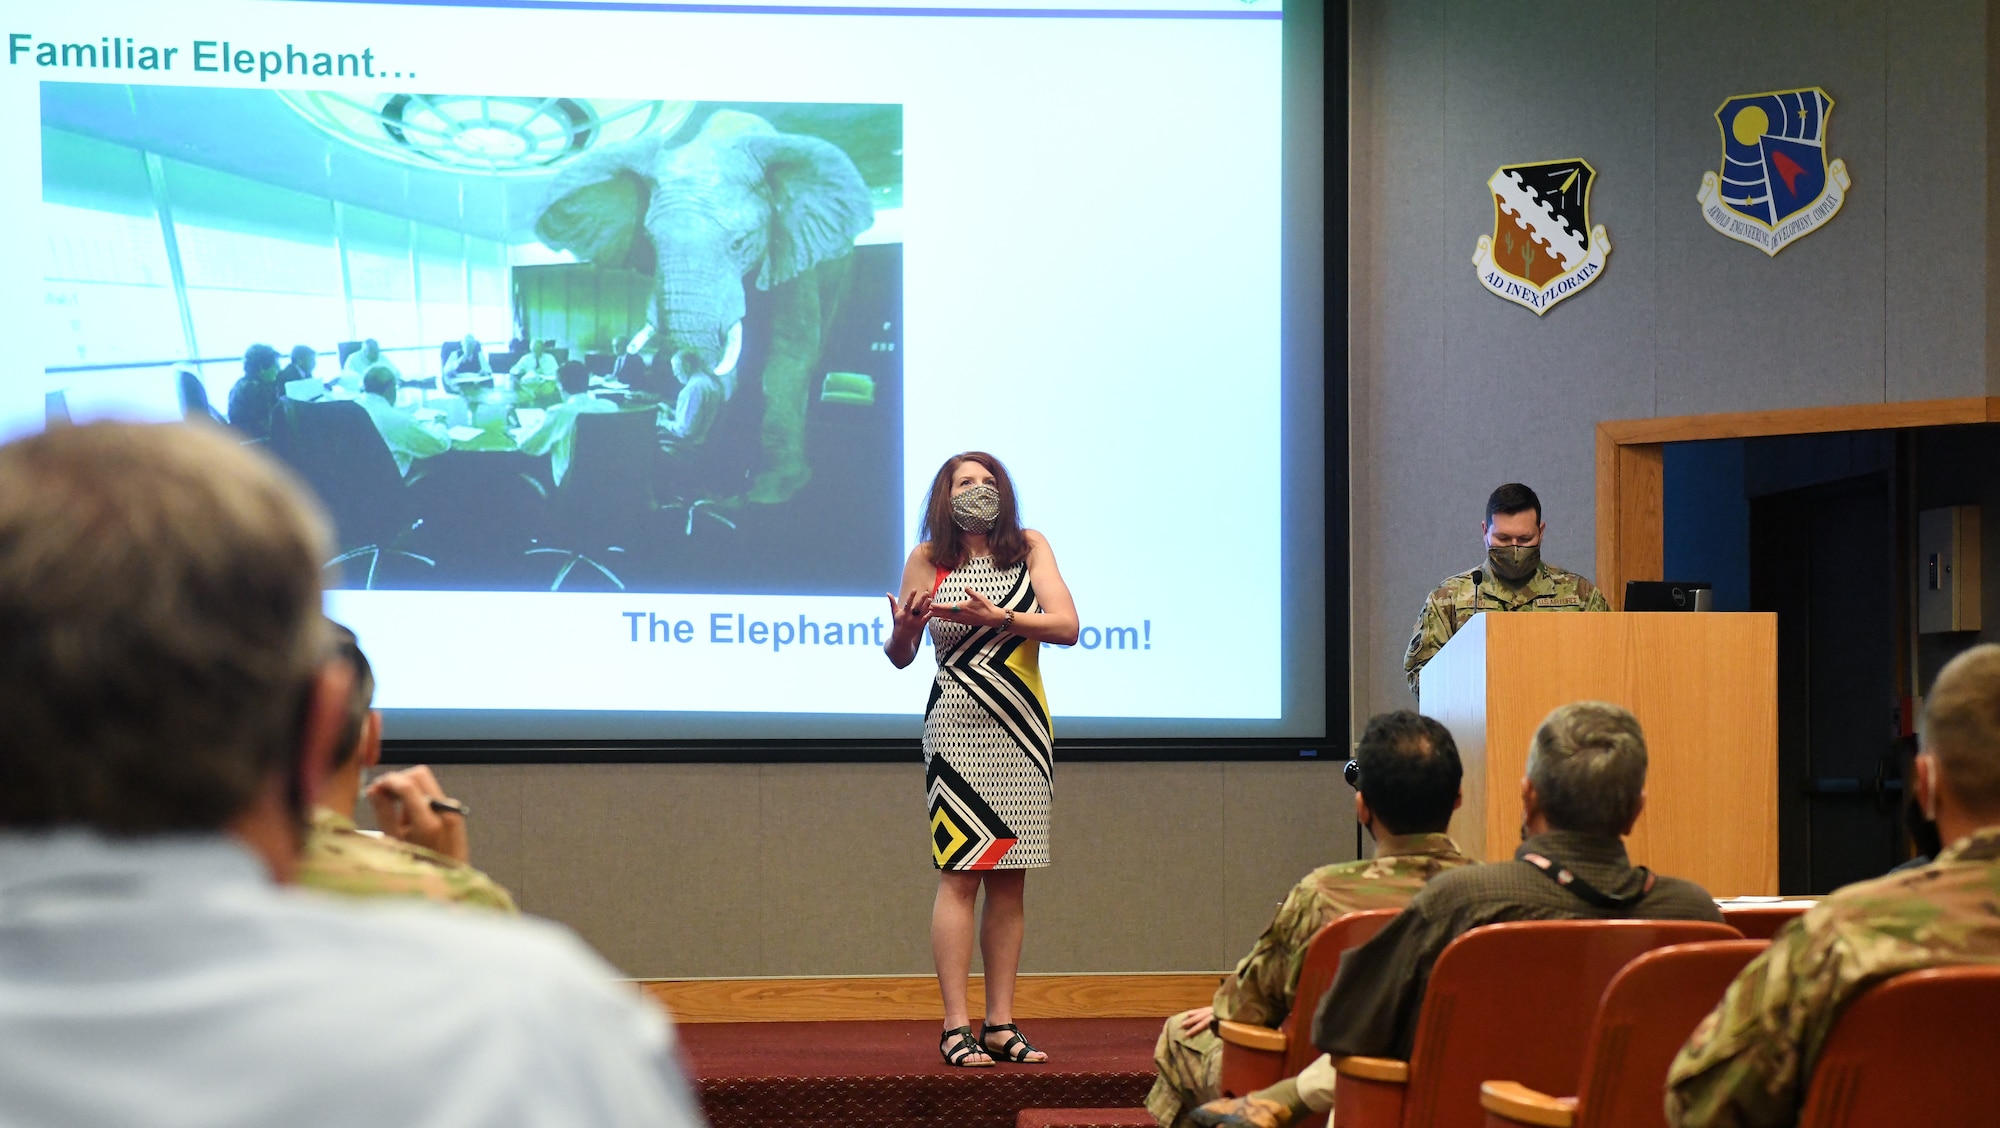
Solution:
[[[944,604],[972,590],[1000,610],[1040,612],[1028,564],[990,556],[938,576]],[[998,628],[930,620],[938,680],[924,706],[930,858],[940,870],[1032,870],[1048,864],[1054,738],[1040,642]]]

